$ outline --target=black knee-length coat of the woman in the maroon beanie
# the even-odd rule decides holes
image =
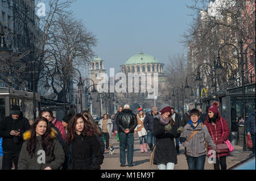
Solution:
[[[174,138],[178,138],[177,125],[172,125],[170,131],[165,131],[163,123],[160,122],[158,115],[154,116],[153,132],[156,136],[156,149],[154,164],[175,163],[177,164],[177,152],[174,144]]]

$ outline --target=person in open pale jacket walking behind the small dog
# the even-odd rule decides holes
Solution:
[[[103,115],[103,119],[98,122],[98,126],[101,128],[106,141],[106,151],[109,151],[109,138],[112,136],[113,123],[106,113]]]

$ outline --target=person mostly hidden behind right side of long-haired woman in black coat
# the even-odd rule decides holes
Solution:
[[[98,140],[98,142],[101,145],[102,154],[104,154],[104,152],[105,152],[105,144],[104,144],[104,141],[103,141],[103,139],[101,137],[101,128],[98,127],[98,125],[93,121],[93,117],[92,117],[92,115],[90,114],[89,111],[86,111],[86,110],[82,111],[81,115],[83,115],[85,120],[88,121],[92,125],[93,134],[96,135],[97,140]]]

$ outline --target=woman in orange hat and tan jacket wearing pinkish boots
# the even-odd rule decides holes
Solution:
[[[139,136],[139,147],[141,148],[141,153],[147,152],[147,131],[144,128],[144,119],[145,119],[145,115],[143,113],[142,108],[138,109],[138,115],[137,115],[137,122],[138,125],[137,127],[134,129],[134,135],[137,134],[138,132],[138,136]],[[144,142],[143,142],[144,139]]]

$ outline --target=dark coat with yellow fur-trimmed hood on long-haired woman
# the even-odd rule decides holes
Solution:
[[[40,157],[43,157],[42,152],[38,152],[43,150],[42,146],[42,137],[36,137],[36,149],[35,154],[31,157],[27,151],[27,140],[31,137],[31,132],[28,131],[24,133],[24,143],[22,145],[22,149],[19,154],[18,161],[18,170],[43,170],[46,167],[50,167],[52,170],[58,170],[64,163],[65,154],[63,148],[61,147],[59,141],[56,138],[56,131],[52,129],[51,137],[53,138],[53,145],[51,148],[51,152],[49,155],[45,157],[45,163],[38,163],[38,160],[42,160]]]

